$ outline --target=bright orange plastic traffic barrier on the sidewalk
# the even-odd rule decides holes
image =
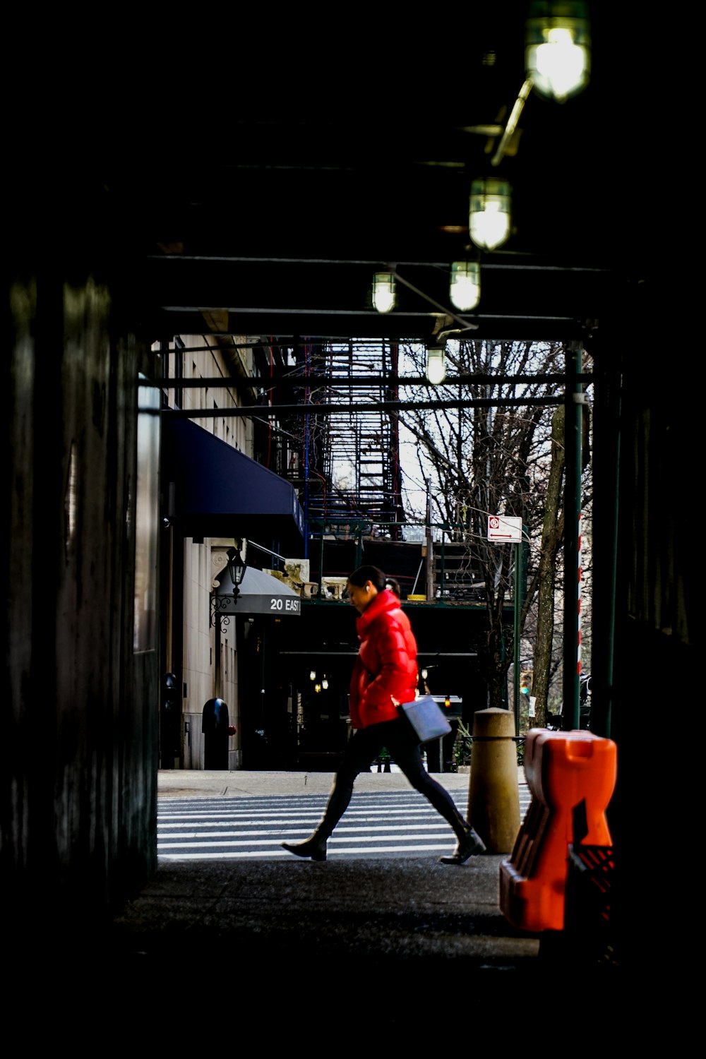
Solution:
[[[559,931],[569,845],[612,845],[605,809],[615,790],[617,748],[592,732],[530,729],[524,767],[532,797],[500,867],[501,911],[521,930]],[[574,833],[577,822],[580,836]]]

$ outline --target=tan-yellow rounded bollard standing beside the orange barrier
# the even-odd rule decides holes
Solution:
[[[473,716],[468,822],[488,852],[512,852],[520,831],[520,787],[511,710],[478,710]]]

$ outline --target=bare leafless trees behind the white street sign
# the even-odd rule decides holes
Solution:
[[[410,347],[405,355],[412,369],[423,374],[424,348]],[[446,379],[433,391],[445,407],[405,412],[400,421],[416,438],[421,479],[434,482],[437,534],[465,545],[469,570],[477,571],[476,584],[483,585],[485,642],[478,647],[491,706],[506,705],[513,658],[508,609],[514,598],[514,562],[520,548],[524,550],[520,634],[525,625],[535,626],[532,690],[536,723],[543,725],[563,542],[564,347],[449,342],[446,364]],[[411,514],[419,517],[419,511]],[[524,543],[489,543],[490,515],[522,518]]]

